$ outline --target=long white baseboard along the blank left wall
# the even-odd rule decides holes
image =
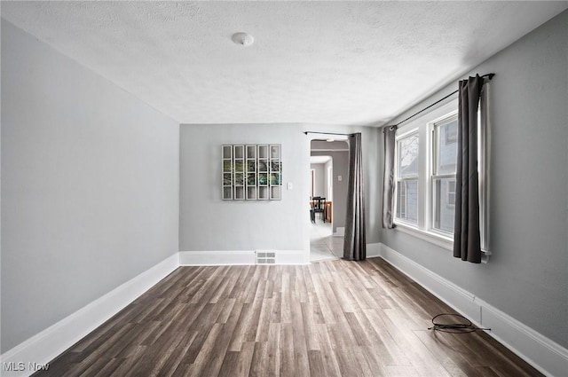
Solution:
[[[21,377],[35,373],[75,342],[91,333],[179,266],[176,254],[99,297],[67,318],[21,342],[1,357],[0,375]],[[39,370],[39,369],[37,369]]]

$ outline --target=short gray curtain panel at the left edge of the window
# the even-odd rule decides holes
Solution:
[[[383,228],[394,228],[394,146],[397,127],[384,130]]]

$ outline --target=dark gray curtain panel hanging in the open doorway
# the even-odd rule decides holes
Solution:
[[[365,258],[367,258],[367,240],[365,238],[361,134],[356,133],[349,136],[349,183],[343,259],[364,261]]]

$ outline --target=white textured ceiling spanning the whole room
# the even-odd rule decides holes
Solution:
[[[568,2],[2,2],[2,17],[180,123],[375,124]],[[249,47],[231,35],[255,37]]]

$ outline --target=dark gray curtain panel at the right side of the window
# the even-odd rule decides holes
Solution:
[[[477,173],[477,106],[484,78],[459,82],[458,161],[455,182],[454,256],[481,263],[479,177]]]

